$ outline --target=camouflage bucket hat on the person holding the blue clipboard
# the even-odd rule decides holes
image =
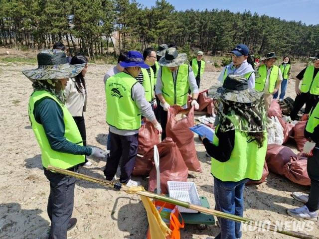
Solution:
[[[216,100],[238,103],[252,103],[260,100],[264,93],[248,88],[248,80],[241,75],[228,75],[222,86],[214,85],[208,90],[208,96]]]

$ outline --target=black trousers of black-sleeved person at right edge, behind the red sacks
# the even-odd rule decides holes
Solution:
[[[294,102],[294,108],[290,113],[290,118],[292,120],[295,120],[298,112],[305,105],[305,103],[306,103],[305,114],[309,114],[311,108],[316,106],[317,102],[318,102],[318,96],[312,95],[309,92],[301,93],[300,95],[297,95]]]

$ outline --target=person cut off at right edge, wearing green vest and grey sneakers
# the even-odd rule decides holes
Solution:
[[[294,192],[292,196],[305,205],[300,208],[289,209],[287,213],[298,219],[317,221],[319,209],[319,103],[309,114],[305,127],[305,137],[308,141],[305,143],[304,151],[308,151],[307,144],[309,144],[310,149],[307,152],[307,173],[311,180],[310,194]]]

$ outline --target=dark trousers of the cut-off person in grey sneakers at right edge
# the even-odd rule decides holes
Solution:
[[[313,156],[307,159],[307,172],[311,180],[310,194],[306,206],[309,211],[319,209],[319,149],[315,148]]]

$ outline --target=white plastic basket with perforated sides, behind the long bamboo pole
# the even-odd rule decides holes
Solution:
[[[169,197],[201,206],[196,185],[193,182],[167,181]],[[177,206],[181,213],[198,213],[198,211]]]

